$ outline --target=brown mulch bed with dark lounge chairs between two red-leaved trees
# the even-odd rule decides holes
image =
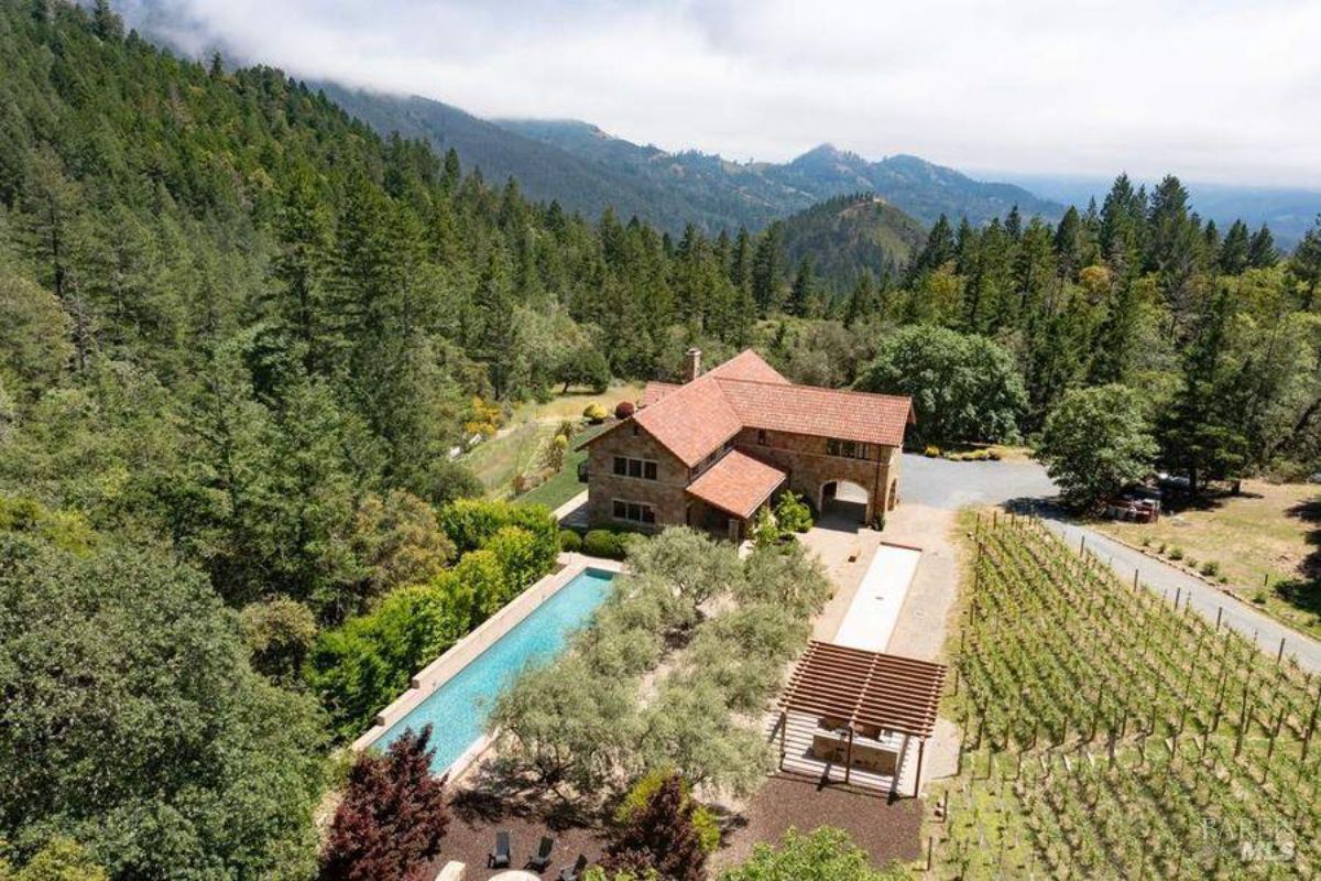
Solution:
[[[483,766],[473,779],[456,787],[449,800],[450,820],[435,868],[450,860],[468,866],[468,881],[485,881],[505,869],[487,869],[486,855],[495,847],[495,833],[506,831],[513,841],[510,868],[524,868],[543,835],[555,839],[551,865],[543,878],[559,878],[579,853],[598,860],[605,851],[600,818],[567,804],[530,779],[509,775],[509,769]]]

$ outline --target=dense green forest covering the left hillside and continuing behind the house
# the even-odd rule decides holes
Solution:
[[[935,444],[1033,435],[1124,383],[1194,479],[1321,453],[1321,232],[1281,255],[1174,178],[1058,226],[941,218],[909,265],[853,276],[869,259],[783,225],[532,203],[104,3],[0,0],[0,57],[12,863],[313,876],[329,745],[553,559],[544,511],[453,503],[480,493],[449,457],[465,424],[672,378],[690,345],[910,392]]]

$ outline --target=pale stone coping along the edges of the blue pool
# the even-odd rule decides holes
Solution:
[[[450,646],[445,654],[423,667],[412,678],[408,691],[380,711],[376,715],[375,724],[353,742],[353,750],[362,752],[375,744],[395,722],[427,700],[436,688],[449,682],[454,674],[495,645],[505,634],[542,606],[542,604],[553,597],[560,588],[587,569],[620,572],[622,564],[616,560],[602,560],[583,553],[560,553],[556,560],[555,572],[530,585],[499,612],[483,621],[476,630]],[[468,748],[449,766],[450,777],[462,774],[486,752],[490,744],[490,736],[478,738],[477,742]]]

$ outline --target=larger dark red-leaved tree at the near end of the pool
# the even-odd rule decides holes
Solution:
[[[440,853],[449,808],[428,740],[431,725],[404,732],[384,756],[358,757],[321,852],[321,881],[411,881]]]

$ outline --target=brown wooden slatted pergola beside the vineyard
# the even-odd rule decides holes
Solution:
[[[790,712],[832,720],[832,725],[848,730],[845,782],[849,781],[853,738],[859,728],[904,734],[905,749],[908,738],[917,737],[917,779],[913,786],[917,795],[922,786],[926,740],[935,730],[945,675],[945,664],[828,642],[808,643],[779,703],[781,761]]]

